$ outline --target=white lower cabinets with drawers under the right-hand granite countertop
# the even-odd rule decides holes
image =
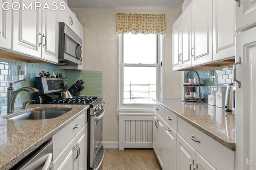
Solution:
[[[160,106],[160,105],[159,105]],[[153,108],[153,148],[163,170],[235,170],[235,152],[164,108]]]

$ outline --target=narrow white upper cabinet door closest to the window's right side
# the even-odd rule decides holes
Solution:
[[[172,70],[180,69],[180,19],[172,25]]]

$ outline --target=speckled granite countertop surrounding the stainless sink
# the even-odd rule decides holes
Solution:
[[[34,110],[70,110],[60,117],[44,120],[7,120],[6,111],[0,113],[0,169],[8,170],[60,129],[86,111],[89,105],[30,104],[28,109],[17,109],[15,115]]]

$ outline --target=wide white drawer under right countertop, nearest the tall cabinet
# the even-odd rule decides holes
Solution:
[[[178,134],[216,169],[235,169],[235,152],[178,117]],[[194,136],[193,141],[190,137]]]

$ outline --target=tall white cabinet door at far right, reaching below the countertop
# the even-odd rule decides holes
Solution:
[[[256,162],[256,28],[236,36],[236,61],[241,63],[234,69],[236,79],[236,169],[255,169]],[[254,168],[253,168],[254,167]]]

